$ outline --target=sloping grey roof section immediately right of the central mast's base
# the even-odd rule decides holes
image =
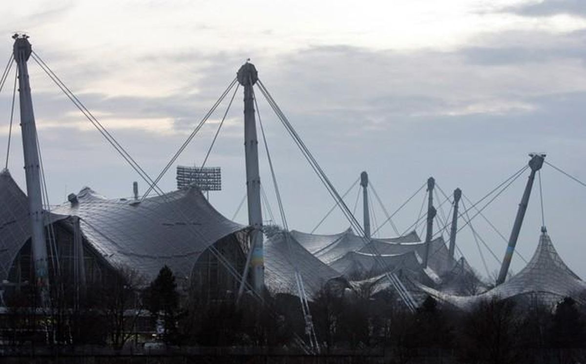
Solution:
[[[328,280],[340,274],[309,253],[291,233],[289,239],[285,234],[278,232],[264,242],[265,284],[273,293],[298,295],[297,266],[308,298],[314,298]]]

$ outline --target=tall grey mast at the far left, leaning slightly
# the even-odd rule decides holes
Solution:
[[[16,33],[13,55],[18,67],[18,91],[21,105],[22,147],[25,157],[26,195],[29,202],[30,227],[32,232],[31,246],[35,281],[39,288],[43,307],[49,306],[49,269],[47,266],[47,246],[45,242],[45,216],[40,185],[39,149],[35,125],[33,101],[30,96],[28,62],[32,47],[29,37]]]

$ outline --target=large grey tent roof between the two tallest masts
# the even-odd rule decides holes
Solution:
[[[138,270],[149,280],[165,264],[188,278],[204,250],[244,229],[217,212],[195,187],[142,202],[105,199],[84,188],[77,200],[54,212],[79,216],[84,237],[109,263]]]

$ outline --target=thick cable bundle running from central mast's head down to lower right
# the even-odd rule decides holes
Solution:
[[[264,84],[262,83],[261,80],[257,81],[257,86],[260,89],[261,93],[263,93],[263,96],[266,98],[267,102],[269,103],[272,110],[277,115],[278,119],[281,121],[282,125],[285,127],[285,130],[287,130],[289,135],[291,135],[295,144],[297,144],[297,146],[299,147],[299,150],[302,152],[305,159],[309,162],[309,165],[311,166],[311,168],[314,169],[314,172],[316,173],[316,175],[318,176],[320,181],[323,183],[326,190],[328,190],[328,193],[332,196],[332,198],[334,200],[337,200],[339,202],[340,209],[342,209],[342,212],[344,213],[344,215],[346,216],[346,218],[348,219],[348,221],[350,222],[352,227],[354,229],[356,229],[356,232],[359,232],[359,235],[364,240],[364,246],[370,247],[370,249],[374,253],[373,257],[374,257],[376,263],[379,264],[380,267],[384,269],[386,267],[386,264],[384,263],[384,261],[381,260],[380,253],[376,251],[376,247],[374,247],[373,244],[369,244],[370,241],[369,241],[369,239],[366,239],[366,237],[364,236],[364,230],[362,229],[362,226],[360,226],[360,223],[358,222],[358,220],[356,220],[356,217],[350,212],[348,206],[342,200],[342,198],[340,197],[340,195],[339,195],[338,191],[335,189],[335,187],[332,185],[332,182],[329,181],[328,176],[325,174],[325,172],[323,172],[323,169],[321,168],[321,166],[319,166],[318,162],[315,160],[315,158],[313,157],[313,155],[311,154],[309,149],[306,147],[305,143],[301,140],[301,137],[299,137],[299,134],[297,134],[297,131],[295,131],[295,129],[292,127],[291,123],[289,123],[285,114],[282,113],[280,107],[278,107],[277,103],[274,101],[274,99],[272,98],[270,93],[268,93],[268,90],[266,90],[266,88],[264,87]],[[384,271],[385,271],[384,274],[386,275],[387,279],[390,281],[390,283],[396,289],[397,293],[400,295],[401,299],[406,304],[407,308],[410,309],[410,311],[414,312],[416,304],[415,304],[415,301],[414,301],[413,297],[411,296],[410,292],[407,291],[406,287],[403,285],[403,283],[401,283],[401,281],[399,280],[397,275],[394,274],[393,272],[390,272],[390,269],[388,269],[388,267]]]

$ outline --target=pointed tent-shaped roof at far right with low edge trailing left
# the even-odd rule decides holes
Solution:
[[[433,297],[464,309],[494,297],[504,300],[533,295],[544,304],[552,304],[568,296],[582,301],[582,295],[586,291],[586,283],[561,260],[546,232],[541,233],[533,257],[519,273],[483,294],[459,296],[440,292],[423,284],[417,285]]]

